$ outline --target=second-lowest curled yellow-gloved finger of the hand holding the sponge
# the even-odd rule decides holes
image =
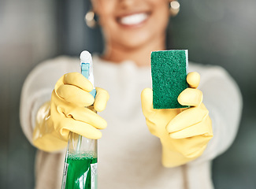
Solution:
[[[209,111],[207,109],[201,109],[199,107],[185,109],[167,124],[166,130],[169,133],[178,132],[184,128],[191,127],[191,125],[202,122],[208,114]]]

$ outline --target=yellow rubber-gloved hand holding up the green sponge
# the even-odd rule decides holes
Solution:
[[[147,126],[162,144],[162,164],[165,167],[183,165],[198,158],[213,137],[209,112],[202,103],[202,91],[197,72],[187,74],[189,88],[182,91],[178,102],[187,109],[153,109],[153,91],[143,90],[142,108]]]

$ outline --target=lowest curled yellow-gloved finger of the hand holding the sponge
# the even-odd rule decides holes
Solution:
[[[178,132],[172,132],[169,136],[173,139],[185,139],[196,135],[212,136],[212,128],[210,127],[210,118],[202,120],[198,124],[191,125],[191,127],[184,128]]]

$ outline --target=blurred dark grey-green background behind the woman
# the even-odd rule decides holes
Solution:
[[[99,29],[83,20],[88,9],[85,0],[0,0],[0,188],[34,187],[35,148],[19,120],[28,73],[61,54],[102,51]],[[188,49],[190,61],[223,66],[243,94],[236,141],[213,161],[217,189],[256,188],[255,9],[255,0],[180,0],[180,13],[171,20],[169,48]]]

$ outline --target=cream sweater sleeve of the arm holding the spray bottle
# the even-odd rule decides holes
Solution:
[[[70,69],[72,61],[68,57],[44,61],[37,65],[24,81],[20,96],[20,124],[30,143],[32,143],[37,111],[44,102],[50,101],[51,92],[58,79],[72,71]]]

